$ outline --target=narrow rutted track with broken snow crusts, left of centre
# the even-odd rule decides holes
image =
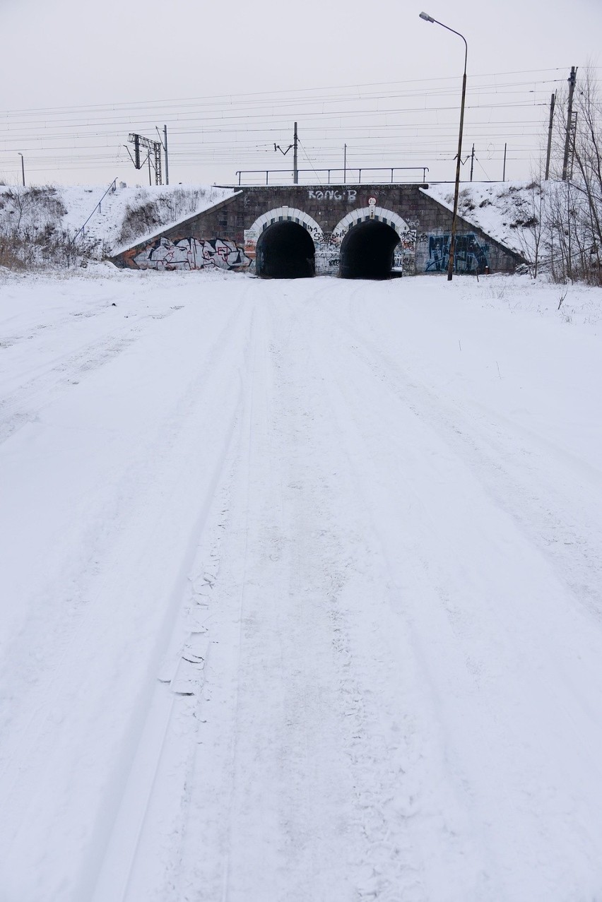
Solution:
[[[224,529],[227,521],[224,511],[221,515],[218,511],[232,477],[240,412],[239,406],[191,538],[194,558],[181,568],[182,574],[187,574],[188,587],[180,584],[174,592],[178,611],[171,625],[170,648],[159,670],[161,685],[154,690],[137,743],[92,902],[181,899],[177,887],[210,661],[211,630],[205,621],[210,621],[212,588],[218,577],[218,529]]]

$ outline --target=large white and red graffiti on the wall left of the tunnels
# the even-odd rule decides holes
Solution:
[[[134,256],[134,264],[147,270],[243,270],[251,262],[240,247],[224,238],[157,238]]]

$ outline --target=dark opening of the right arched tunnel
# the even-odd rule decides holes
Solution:
[[[352,226],[340,247],[341,279],[389,279],[399,235],[392,226],[367,219]]]

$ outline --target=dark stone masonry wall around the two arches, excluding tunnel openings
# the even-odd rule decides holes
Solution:
[[[451,213],[419,185],[273,186],[241,188],[234,198],[166,228],[127,251],[118,266],[182,269],[218,266],[245,270],[271,222],[293,219],[310,231],[317,272],[338,272],[338,249],[350,227],[369,216],[393,226],[403,272],[442,272],[449,260]],[[458,218],[458,272],[514,272],[516,253]]]

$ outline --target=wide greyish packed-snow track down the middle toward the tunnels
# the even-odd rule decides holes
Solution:
[[[356,828],[340,754],[351,703],[336,679],[348,658],[333,644],[350,564],[330,525],[320,466],[328,419],[323,410],[311,415],[319,386],[306,384],[296,324],[272,301],[279,290],[264,289],[265,316],[258,311],[250,442],[214,590],[222,614],[208,674],[213,716],[199,745],[174,900],[344,902],[353,893]]]

